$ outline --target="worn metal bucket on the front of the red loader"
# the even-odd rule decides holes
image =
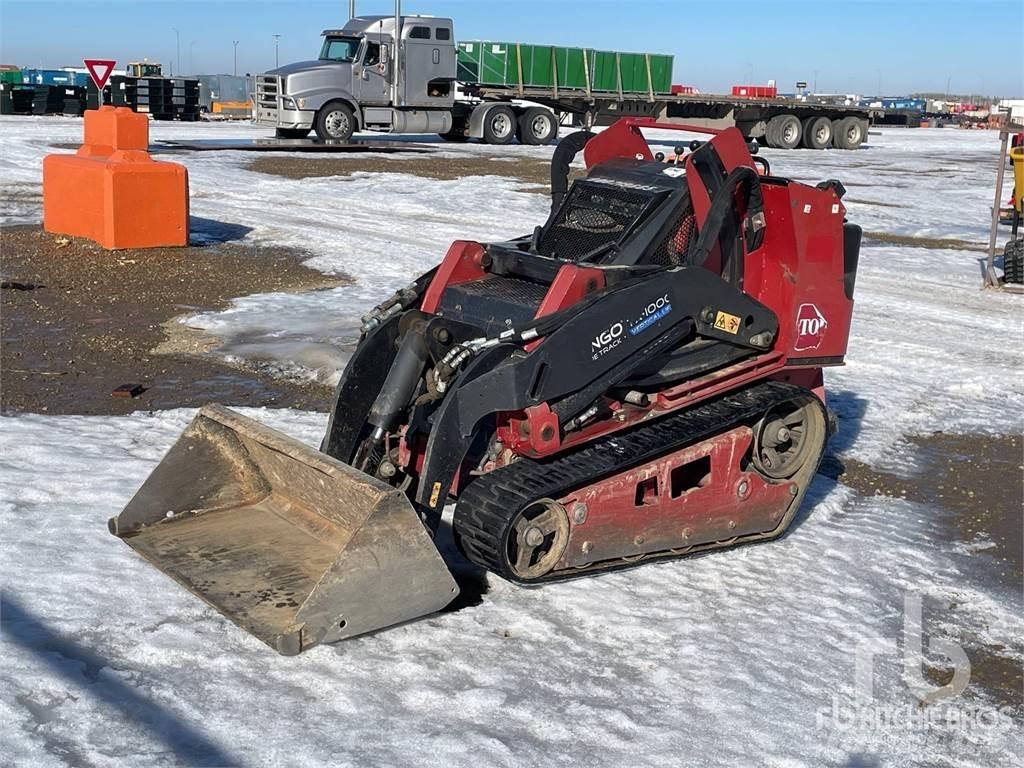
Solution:
[[[200,411],[110,529],[286,655],[459,593],[401,492],[219,406]]]

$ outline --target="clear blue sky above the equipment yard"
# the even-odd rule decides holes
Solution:
[[[357,0],[360,14],[391,0]],[[674,82],[707,92],[798,80],[818,92],[913,91],[1024,97],[1024,0],[406,0],[455,19],[458,40],[500,40],[675,55]],[[84,57],[230,73],[314,58],[347,0],[0,0],[0,61],[81,66]],[[175,35],[174,29],[178,34]]]

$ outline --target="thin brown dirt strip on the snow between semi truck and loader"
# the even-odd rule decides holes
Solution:
[[[536,184],[545,193],[550,188],[551,164],[534,158],[295,158],[262,157],[249,169],[291,179],[349,176],[353,173],[409,173],[445,181],[465,176],[510,176]]]

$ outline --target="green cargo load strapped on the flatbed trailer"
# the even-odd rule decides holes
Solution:
[[[670,93],[672,56],[555,45],[459,43],[463,83],[507,88],[558,88],[605,93]]]

